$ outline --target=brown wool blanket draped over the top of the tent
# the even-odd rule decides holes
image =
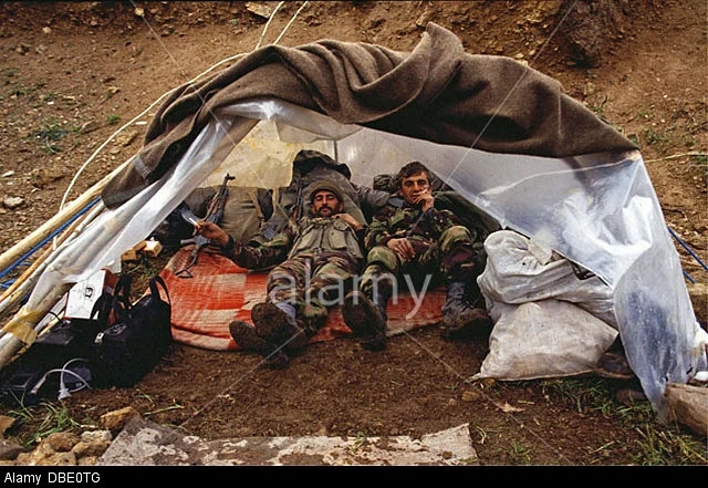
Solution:
[[[430,23],[409,53],[334,40],[269,45],[177,89],[149,125],[139,157],[105,187],[104,203],[116,207],[159,179],[214,111],[262,96],[345,124],[496,153],[565,157],[636,148],[559,82],[508,58],[467,54],[454,33]]]

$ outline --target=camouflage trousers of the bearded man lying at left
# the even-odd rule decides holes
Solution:
[[[295,308],[305,330],[324,325],[331,307],[341,304],[361,262],[347,252],[306,252],[280,263],[268,274],[268,301]]]

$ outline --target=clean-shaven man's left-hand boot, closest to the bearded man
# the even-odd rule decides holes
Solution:
[[[368,351],[386,349],[386,307],[388,297],[374,292],[372,299],[354,290],[344,297],[342,315],[358,343]]]

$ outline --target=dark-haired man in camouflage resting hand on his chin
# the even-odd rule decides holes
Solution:
[[[419,162],[397,175],[399,205],[389,204],[373,219],[364,239],[366,269],[358,290],[344,299],[347,326],[367,350],[386,346],[386,309],[398,280],[409,283],[447,284],[442,305],[442,336],[460,339],[473,330],[488,329],[491,320],[477,285],[485,258],[473,243],[473,232],[446,209],[435,208],[428,169]],[[392,200],[393,201],[393,200]]]

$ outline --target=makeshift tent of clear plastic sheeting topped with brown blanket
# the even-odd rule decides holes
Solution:
[[[274,123],[279,142],[246,144],[259,121]],[[705,334],[635,145],[556,81],[467,54],[436,24],[412,52],[270,45],[174,91],[140,153],[105,187],[108,211],[61,249],[2,340],[31,342],[27,329],[67,287],[119,262],[227,159],[238,184],[273,188],[288,183],[294,156],[278,148],[312,144],[365,185],[420,160],[501,227],[594,272],[614,291],[628,361],[660,417],[667,382],[706,370]]]

